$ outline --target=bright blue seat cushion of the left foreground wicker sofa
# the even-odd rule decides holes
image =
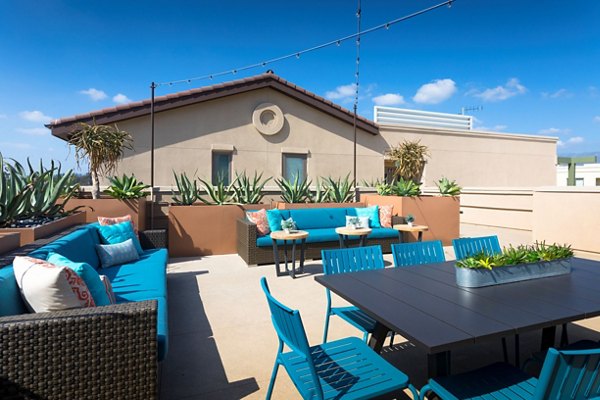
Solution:
[[[167,263],[166,249],[146,250],[139,260],[102,270],[113,287],[117,303],[158,301],[158,360],[162,361],[168,347]]]

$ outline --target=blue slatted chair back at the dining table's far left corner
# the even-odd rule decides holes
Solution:
[[[367,271],[385,267],[381,246],[321,250],[325,275]]]

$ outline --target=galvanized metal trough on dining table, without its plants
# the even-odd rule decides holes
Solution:
[[[571,259],[507,265],[492,270],[454,267],[456,284],[461,287],[484,287],[503,283],[546,278],[571,273]]]

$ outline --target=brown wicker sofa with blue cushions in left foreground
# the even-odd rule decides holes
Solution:
[[[0,268],[0,398],[156,399],[168,344],[167,250],[101,268],[90,224],[28,255],[50,252],[106,275],[117,304],[29,313],[12,265]]]

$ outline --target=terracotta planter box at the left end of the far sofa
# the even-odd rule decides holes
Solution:
[[[245,217],[246,210],[261,208],[268,206],[170,206],[169,255],[197,257],[237,253],[236,221]]]

